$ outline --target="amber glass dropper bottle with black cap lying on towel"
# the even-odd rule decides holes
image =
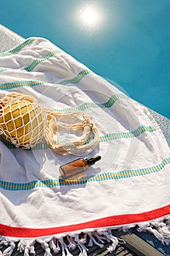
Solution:
[[[72,162],[68,162],[65,165],[59,167],[61,178],[74,179],[80,178],[81,174],[88,169],[90,165],[94,165],[98,160],[101,159],[101,156],[89,157],[89,158],[79,158]]]

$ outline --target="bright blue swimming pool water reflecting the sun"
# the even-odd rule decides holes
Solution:
[[[87,8],[97,16],[85,17]],[[50,39],[170,118],[169,10],[169,0],[5,0],[0,23],[25,38]]]

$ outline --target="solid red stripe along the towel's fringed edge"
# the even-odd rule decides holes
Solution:
[[[58,233],[71,233],[76,230],[85,230],[88,228],[95,229],[99,227],[112,227],[131,225],[139,222],[150,222],[153,219],[166,217],[170,214],[170,205],[164,206],[142,214],[123,214],[112,217],[96,219],[90,222],[83,222],[75,225],[67,225],[63,227],[50,228],[27,228],[27,227],[11,227],[0,224],[0,236],[8,236],[15,238],[36,238],[42,236],[53,236]]]

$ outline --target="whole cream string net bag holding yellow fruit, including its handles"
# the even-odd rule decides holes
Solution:
[[[59,122],[58,118],[82,118],[82,121],[69,125]],[[74,141],[59,143],[59,127],[70,131],[82,129],[82,136]],[[91,132],[93,139],[88,143]],[[9,143],[23,149],[33,148],[45,137],[47,144],[57,154],[88,153],[99,143],[98,129],[85,113],[61,114],[43,108],[34,97],[15,92],[7,94],[0,100],[0,135]]]

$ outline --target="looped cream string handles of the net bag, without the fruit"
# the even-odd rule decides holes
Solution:
[[[56,121],[56,117],[60,118],[72,118],[72,117],[80,117],[82,116],[83,121],[81,123],[76,124],[65,124],[61,121]],[[62,127],[63,129],[70,130],[79,130],[82,129],[82,136],[77,140],[72,140],[66,143],[59,142],[58,133],[56,133],[56,129]],[[93,139],[89,140],[90,133],[93,133]],[[54,135],[55,138],[54,138]],[[99,143],[99,135],[98,129],[96,126],[90,122],[90,117],[85,115],[82,112],[75,113],[66,113],[61,115],[61,113],[51,111],[47,116],[47,125],[45,129],[45,139],[50,148],[53,149],[57,154],[82,154],[88,153],[88,151],[93,151]]]

